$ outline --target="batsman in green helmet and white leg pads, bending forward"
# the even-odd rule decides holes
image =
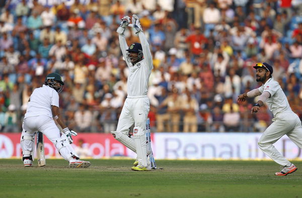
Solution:
[[[70,131],[64,124],[59,110],[59,92],[63,89],[64,82],[58,73],[46,76],[42,87],[35,88],[28,102],[26,114],[22,125],[21,148],[22,160],[25,167],[33,164],[34,139],[37,131],[42,132],[57,148],[60,155],[69,161],[69,167],[89,167],[90,162],[80,160],[70,144],[71,135],[77,133]],[[62,127],[61,133],[54,120]]]

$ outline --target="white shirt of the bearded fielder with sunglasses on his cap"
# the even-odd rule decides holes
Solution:
[[[264,91],[268,91],[270,93],[271,96],[266,100],[266,103],[274,117],[281,112],[293,113],[288,104],[286,95],[284,94],[279,83],[275,81],[273,77],[268,79],[262,86],[258,88],[258,90],[261,92],[261,94]]]

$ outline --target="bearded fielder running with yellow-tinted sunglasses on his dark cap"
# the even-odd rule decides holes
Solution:
[[[299,148],[302,149],[302,126],[299,117],[291,110],[281,86],[272,77],[273,67],[268,63],[257,63],[253,66],[256,71],[256,81],[262,86],[238,96],[238,102],[244,102],[247,97],[259,95],[258,102],[253,106],[251,113],[257,113],[266,102],[273,113],[273,123],[264,131],[258,141],[259,148],[282,167],[276,176],[284,176],[297,170],[275,147],[274,143],[283,135],[287,135]]]

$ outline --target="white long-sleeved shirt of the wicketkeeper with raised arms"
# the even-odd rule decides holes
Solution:
[[[128,45],[126,43],[124,35],[119,34],[119,43],[121,51],[129,67],[129,75],[127,80],[127,94],[128,97],[131,96],[142,96],[147,95],[148,92],[148,81],[150,73],[153,69],[152,54],[150,52],[149,44],[143,32],[138,33],[140,44],[142,47],[143,59],[132,65],[131,62],[127,61],[127,49]]]

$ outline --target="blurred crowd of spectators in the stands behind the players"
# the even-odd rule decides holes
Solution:
[[[0,3],[1,132],[21,132],[29,96],[50,72],[63,77],[60,109],[69,128],[115,130],[129,72],[116,29],[132,14],[153,53],[153,132],[262,132],[272,119],[267,107],[251,114],[255,98],[237,103],[260,86],[257,62],[273,65],[302,118],[300,1],[16,1]],[[125,35],[128,45],[139,42],[130,28]]]

